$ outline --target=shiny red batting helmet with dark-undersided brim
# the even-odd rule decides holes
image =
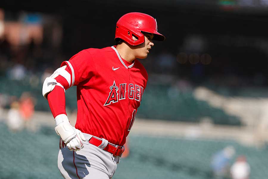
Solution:
[[[165,40],[165,36],[157,32],[156,19],[144,13],[127,13],[119,18],[114,39],[121,38],[130,45],[139,45],[144,42],[142,32],[154,34],[153,40]],[[132,35],[138,40],[133,40]]]

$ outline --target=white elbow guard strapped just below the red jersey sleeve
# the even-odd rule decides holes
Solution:
[[[49,92],[51,92],[55,88],[56,85],[58,85],[64,89],[64,87],[60,83],[57,83],[57,81],[55,80],[55,78],[58,75],[63,76],[68,81],[68,84],[70,86],[71,75],[65,70],[66,67],[67,66],[65,65],[63,67],[58,68],[50,77],[47,77],[45,79],[45,81],[43,83],[43,90],[42,90],[44,98],[47,99],[47,94]],[[65,92],[65,89],[64,89],[64,92]]]

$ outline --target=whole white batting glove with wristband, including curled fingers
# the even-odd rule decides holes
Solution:
[[[57,115],[55,122],[57,125],[55,131],[62,138],[69,150],[77,151],[84,148],[82,141],[86,141],[85,136],[80,130],[71,126],[65,114]]]

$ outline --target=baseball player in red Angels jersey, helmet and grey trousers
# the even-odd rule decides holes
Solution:
[[[45,79],[43,96],[60,136],[58,168],[64,178],[112,178],[147,84],[136,58],[147,57],[152,40],[165,40],[156,19],[127,13],[116,23],[115,46],[82,50]],[[65,110],[65,90],[74,85],[75,127]]]

